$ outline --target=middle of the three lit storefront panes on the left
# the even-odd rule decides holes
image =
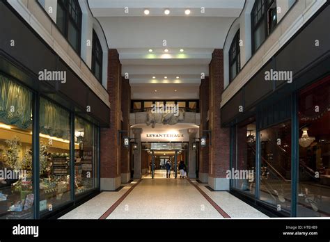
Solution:
[[[40,212],[70,201],[70,113],[40,98]]]

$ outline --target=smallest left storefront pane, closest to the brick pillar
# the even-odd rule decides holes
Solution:
[[[80,194],[97,187],[97,129],[76,118],[74,139],[74,191]]]

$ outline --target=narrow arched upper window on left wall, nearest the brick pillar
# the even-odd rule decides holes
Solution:
[[[93,30],[93,47],[92,47],[92,72],[96,79],[102,83],[102,47],[97,34]]]

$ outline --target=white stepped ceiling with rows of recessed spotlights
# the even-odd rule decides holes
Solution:
[[[208,75],[212,51],[223,48],[244,1],[88,0],[88,4],[109,48],[118,50],[122,74],[129,74],[132,99],[198,99],[201,73]],[[146,8],[148,16],[143,14]],[[169,15],[164,15],[166,8]],[[184,15],[187,8],[189,16]]]

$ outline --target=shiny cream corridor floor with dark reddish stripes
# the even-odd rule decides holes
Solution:
[[[136,179],[120,191],[102,192],[61,219],[265,218],[226,191],[210,191],[195,179]]]

